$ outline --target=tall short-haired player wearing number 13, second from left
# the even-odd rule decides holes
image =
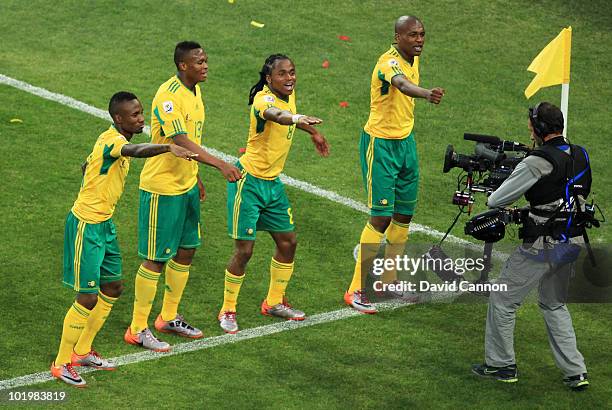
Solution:
[[[208,56],[198,43],[184,41],[176,45],[174,63],[178,72],[159,87],[153,99],[151,142],[184,147],[198,154],[198,162],[219,169],[233,183],[242,177],[238,168],[213,157],[201,146],[204,101],[198,83],[208,76],[207,62]],[[124,335],[127,343],[154,351],[170,348],[153,335],[148,325],[164,265],[164,301],[155,328],[194,339],[203,336],[178,314],[178,305],[200,246],[200,201],[205,195],[195,162],[181,162],[169,156],[146,161],[140,174],[138,217],[138,254],[144,262],[136,275],[132,323]]]

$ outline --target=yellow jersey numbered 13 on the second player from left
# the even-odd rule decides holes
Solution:
[[[204,101],[200,86],[195,92],[175,75],[163,83],[151,108],[151,142],[173,144],[179,134],[198,145],[204,130]],[[180,195],[197,183],[198,162],[185,161],[171,153],[147,158],[140,173],[140,189],[160,195]]]

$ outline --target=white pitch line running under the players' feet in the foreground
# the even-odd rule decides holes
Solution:
[[[386,302],[386,303],[378,303],[376,306],[380,311],[390,311],[400,308],[402,306],[408,306],[411,303],[400,303],[400,302]],[[362,313],[357,312],[351,308],[334,310],[332,312],[319,313],[313,316],[306,318],[306,320],[302,322],[295,321],[285,321],[278,322],[271,325],[264,325],[259,327],[254,327],[250,329],[241,330],[235,335],[221,335],[215,336],[211,338],[196,340],[188,343],[179,343],[172,346],[172,350],[167,353],[156,353],[150,350],[140,351],[138,353],[132,353],[125,356],[119,356],[112,358],[110,360],[117,363],[117,366],[125,366],[132,363],[140,363],[146,362],[149,360],[157,360],[168,356],[174,356],[177,354],[193,352],[196,350],[209,349],[211,347],[216,347],[220,345],[225,345],[229,343],[237,343],[243,340],[255,339],[257,337],[272,335],[275,333],[281,333],[288,330],[295,330],[302,327],[309,327],[319,325],[321,323],[329,323],[335,322],[337,320],[346,319],[354,316],[366,316]],[[91,367],[79,368],[79,373],[90,373],[97,371]],[[31,386],[33,384],[39,384],[54,380],[54,377],[51,376],[49,371],[44,371],[40,373],[32,373],[25,376],[15,377],[13,379],[1,380],[0,381],[0,391],[15,389],[18,387]]]

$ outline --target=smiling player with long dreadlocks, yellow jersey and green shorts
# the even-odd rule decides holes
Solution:
[[[270,264],[270,287],[261,313],[286,320],[304,320],[304,312],[291,307],[285,289],[293,273],[297,246],[291,205],[279,174],[289,154],[293,133],[299,128],[310,134],[316,150],[329,155],[325,137],[313,125],[316,117],[297,114],[295,66],[289,57],[269,56],[250,91],[250,128],[245,154],[239,159],[243,178],[228,184],[228,232],[235,239],[234,255],[225,271],[223,306],[219,325],[236,333],[236,304],[246,265],[253,254],[257,231],[268,231],[276,243]]]

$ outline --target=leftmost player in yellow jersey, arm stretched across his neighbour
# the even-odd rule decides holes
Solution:
[[[87,157],[81,190],[68,213],[64,232],[63,282],[77,292],[77,297],[64,318],[51,374],[77,387],[86,383],[73,366],[115,369],[91,345],[123,290],[121,254],[111,218],[123,193],[129,157],[171,152],[182,161],[196,155],[176,145],[130,144],[132,136],[144,127],[142,105],[134,94],[116,93],[108,111],[113,124],[98,137]]]

